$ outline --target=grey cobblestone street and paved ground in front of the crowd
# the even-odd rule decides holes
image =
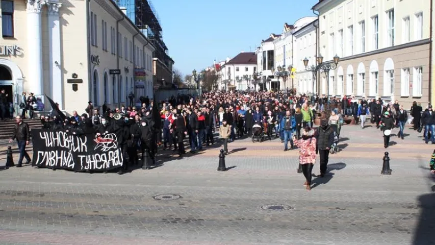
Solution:
[[[230,143],[226,172],[217,146],[165,152],[163,166],[123,176],[10,168],[0,171],[0,244],[435,244],[434,146],[405,133],[392,137],[393,173],[382,176],[381,132],[343,127],[343,151],[310,192],[297,150],[279,140]]]

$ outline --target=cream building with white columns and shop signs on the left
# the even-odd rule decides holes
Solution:
[[[154,47],[112,1],[1,1],[0,88],[16,110],[22,92],[67,113],[152,97]]]

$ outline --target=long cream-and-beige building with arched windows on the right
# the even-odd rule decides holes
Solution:
[[[429,103],[430,1],[323,0],[319,51],[324,62],[340,57],[329,77],[321,74],[323,95],[355,95]]]

